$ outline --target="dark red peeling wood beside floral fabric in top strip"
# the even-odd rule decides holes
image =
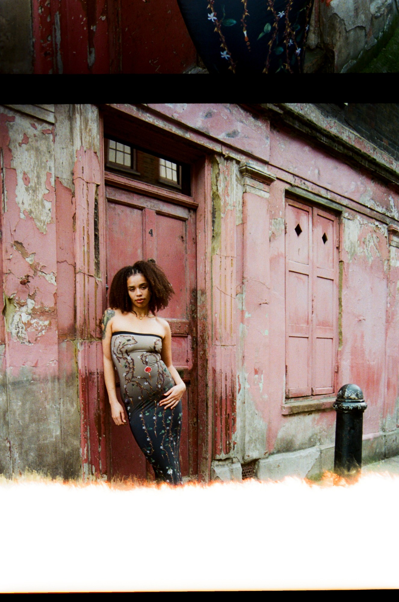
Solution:
[[[34,73],[183,73],[196,49],[175,0],[32,0]]]

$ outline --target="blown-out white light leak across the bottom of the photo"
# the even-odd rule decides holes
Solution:
[[[2,592],[399,587],[399,477],[0,485]]]

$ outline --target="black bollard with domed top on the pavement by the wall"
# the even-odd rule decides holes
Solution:
[[[367,403],[357,385],[344,385],[333,403],[336,411],[334,472],[356,480],[362,468],[363,412]]]

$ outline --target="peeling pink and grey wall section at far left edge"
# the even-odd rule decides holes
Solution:
[[[1,111],[8,445],[5,473],[62,474],[54,129]]]

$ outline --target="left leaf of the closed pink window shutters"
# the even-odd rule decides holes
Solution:
[[[311,395],[312,209],[286,205],[286,396]]]

